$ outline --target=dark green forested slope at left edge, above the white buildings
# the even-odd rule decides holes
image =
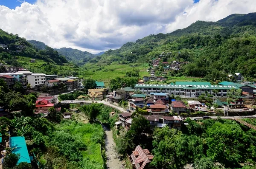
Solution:
[[[0,48],[0,60],[9,65],[20,66],[20,63],[17,62],[18,56],[41,59],[57,65],[67,63],[67,59],[59,55],[54,49],[46,46],[44,50],[40,50],[31,45],[25,38],[20,38],[17,34],[8,34],[2,29],[0,29],[0,43],[7,45],[6,48]]]

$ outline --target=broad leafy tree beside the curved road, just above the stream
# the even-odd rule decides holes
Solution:
[[[90,123],[92,123],[97,115],[99,114],[101,104],[90,104],[90,105],[84,105],[80,107],[80,110],[87,116]]]

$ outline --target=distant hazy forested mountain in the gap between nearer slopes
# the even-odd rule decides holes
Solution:
[[[60,54],[67,56],[69,61],[75,62],[79,65],[84,65],[85,62],[88,62],[90,59],[94,58],[95,55],[87,51],[79,51],[78,49],[73,48],[60,48],[56,49]]]

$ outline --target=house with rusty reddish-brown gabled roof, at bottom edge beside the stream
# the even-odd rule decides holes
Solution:
[[[154,155],[148,151],[148,149],[142,149],[138,145],[131,154],[132,164],[136,169],[155,169],[150,165]]]

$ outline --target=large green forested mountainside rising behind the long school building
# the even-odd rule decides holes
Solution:
[[[159,56],[162,52],[169,54]],[[232,14],[217,22],[197,21],[169,34],[151,34],[136,42],[127,42],[119,49],[106,51],[91,59],[86,67],[141,65],[158,57],[169,62],[191,62],[172,72],[171,76],[209,80],[240,72],[246,77],[256,77],[256,13]]]

